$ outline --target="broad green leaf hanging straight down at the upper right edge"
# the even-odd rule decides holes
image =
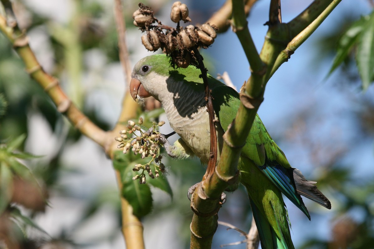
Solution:
[[[374,12],[365,23],[356,55],[362,88],[367,89],[374,80]]]

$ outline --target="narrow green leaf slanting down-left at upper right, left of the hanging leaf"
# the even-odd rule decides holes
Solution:
[[[354,22],[341,36],[329,75],[346,59],[353,45],[356,44],[366,21],[367,20],[364,17],[360,18],[358,21]]]

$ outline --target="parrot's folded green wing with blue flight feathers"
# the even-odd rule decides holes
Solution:
[[[214,111],[223,130],[226,131],[239,108],[239,93],[222,84],[213,88],[212,97]],[[253,122],[241,155],[254,162],[269,180],[310,219],[309,212],[296,190],[293,168],[289,165],[282,150],[267,133],[258,115]]]

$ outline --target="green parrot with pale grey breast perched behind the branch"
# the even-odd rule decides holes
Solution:
[[[203,80],[194,66],[174,69],[166,55],[144,57],[134,66],[130,91],[134,100],[143,102],[153,96],[165,109],[171,128],[180,138],[170,145],[167,153],[175,158],[197,156],[209,160],[210,129],[206,111]],[[223,145],[222,136],[236,116],[239,93],[208,75],[216,119],[218,158]],[[298,169],[292,168],[282,150],[267,133],[256,115],[246,144],[242,149],[238,169],[240,183],[247,191],[263,249],[292,249],[288,215],[282,193],[310,220],[300,195],[326,208],[331,203]]]

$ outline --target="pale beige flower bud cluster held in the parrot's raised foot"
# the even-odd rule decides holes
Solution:
[[[133,171],[141,171],[140,174],[137,174],[132,178],[132,180],[140,179],[140,184],[145,183],[145,171],[151,178],[159,177],[160,172],[166,173],[165,165],[163,165],[161,162],[162,155],[160,155],[160,148],[162,146],[162,143],[160,143],[159,140],[160,133],[155,130],[156,127],[162,126],[163,124],[165,124],[165,122],[153,122],[153,127],[145,132],[143,130],[145,130],[146,128],[141,127],[142,123],[142,118],[139,118],[138,124],[136,124],[132,120],[128,121],[128,130],[120,131],[119,133],[121,134],[121,136],[114,138],[116,141],[120,142],[117,147],[123,148],[124,154],[126,154],[132,147],[131,150],[132,152],[134,152],[134,155],[141,154],[142,159],[151,157],[150,161],[147,162],[147,164],[137,164],[132,169]],[[136,134],[136,131],[138,131],[140,135]],[[151,164],[154,165],[154,174],[152,172],[152,169],[150,168]]]

